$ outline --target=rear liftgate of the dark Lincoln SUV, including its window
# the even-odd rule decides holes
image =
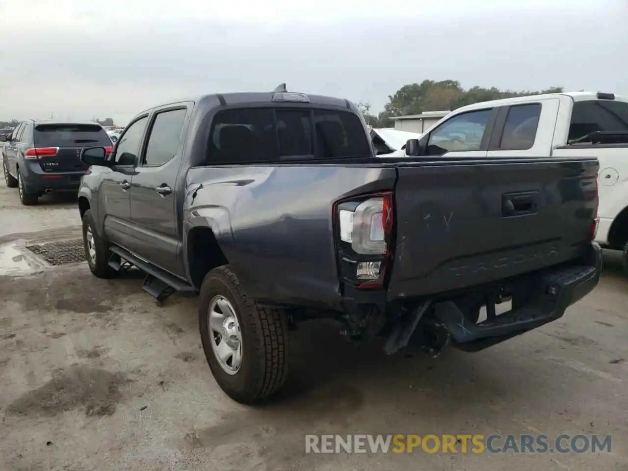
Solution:
[[[56,153],[40,158],[42,170],[54,172],[77,172],[77,181],[87,170],[80,160],[86,147],[111,147],[111,139],[100,124],[37,124],[33,133],[37,149],[57,149]]]

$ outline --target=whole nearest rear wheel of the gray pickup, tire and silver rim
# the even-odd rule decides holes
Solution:
[[[249,299],[229,266],[205,276],[198,323],[212,374],[234,401],[257,403],[283,386],[288,375],[286,313]]]

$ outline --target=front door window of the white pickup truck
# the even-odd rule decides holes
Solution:
[[[456,151],[479,151],[492,109],[459,114],[430,133],[426,155]]]

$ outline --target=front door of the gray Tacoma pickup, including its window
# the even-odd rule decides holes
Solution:
[[[139,117],[124,130],[111,156],[114,164],[106,172],[100,185],[107,239],[129,250],[133,248],[129,231],[131,179],[147,122],[148,116]]]

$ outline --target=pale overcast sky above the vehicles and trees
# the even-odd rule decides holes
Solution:
[[[628,0],[0,0],[0,120],[281,82],[374,111],[426,78],[628,95],[627,57]]]

